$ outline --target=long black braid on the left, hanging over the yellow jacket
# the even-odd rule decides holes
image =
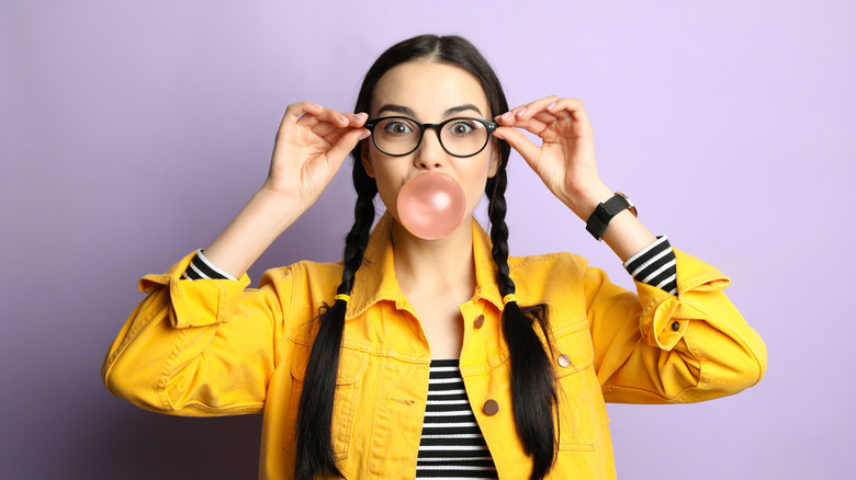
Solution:
[[[357,271],[362,264],[369,235],[374,221],[374,196],[378,186],[362,168],[353,169],[357,204],[353,208],[353,227],[345,237],[345,268],[337,294],[350,295]],[[348,302],[336,300],[322,307],[318,333],[312,344],[309,361],[297,407],[297,453],[295,478],[311,480],[317,475],[334,473],[343,477],[336,466],[333,452],[333,405],[336,393],[336,376],[339,352],[345,332],[345,313]]]

